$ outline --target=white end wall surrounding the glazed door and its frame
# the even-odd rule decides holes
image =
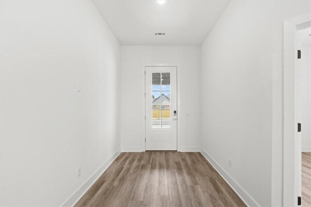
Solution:
[[[143,65],[179,64],[181,151],[200,149],[200,47],[121,46],[121,149],[144,151]],[[190,115],[186,115],[190,113]]]

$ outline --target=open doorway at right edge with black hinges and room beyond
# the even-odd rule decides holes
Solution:
[[[297,31],[298,196],[311,206],[311,27]]]

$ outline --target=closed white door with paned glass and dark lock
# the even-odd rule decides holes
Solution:
[[[177,150],[177,67],[145,67],[146,150]]]

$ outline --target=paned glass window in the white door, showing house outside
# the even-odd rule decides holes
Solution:
[[[152,73],[152,127],[171,127],[171,74]]]

